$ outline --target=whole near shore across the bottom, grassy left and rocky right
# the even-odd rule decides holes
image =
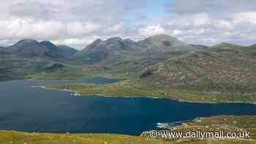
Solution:
[[[214,115],[206,117],[198,117],[189,121],[181,121],[171,129],[157,129],[141,132],[141,134],[118,134],[104,132],[26,132],[18,130],[0,129],[1,143],[91,143],[98,144],[104,142],[110,143],[141,143],[141,144],[157,144],[157,143],[255,143],[256,137],[253,126],[256,115]],[[236,121],[236,122],[234,122]],[[241,126],[242,125],[242,126]],[[152,133],[153,132],[153,133]],[[157,133],[156,133],[157,132]],[[189,132],[188,137],[162,137],[161,132]],[[198,137],[197,132],[217,132],[217,136],[203,135]],[[222,132],[222,134],[219,134]],[[228,132],[248,132],[249,137],[228,136]],[[153,135],[154,134],[154,135]],[[192,136],[195,134],[195,137]],[[168,135],[168,134],[167,134]],[[182,134],[183,135],[183,134]],[[156,137],[154,137],[156,136]]]

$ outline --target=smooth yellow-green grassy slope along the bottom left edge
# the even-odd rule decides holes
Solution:
[[[36,144],[157,144],[168,143],[162,140],[146,140],[145,137],[133,137],[118,134],[42,134],[25,132],[0,132],[0,143],[36,143]]]

